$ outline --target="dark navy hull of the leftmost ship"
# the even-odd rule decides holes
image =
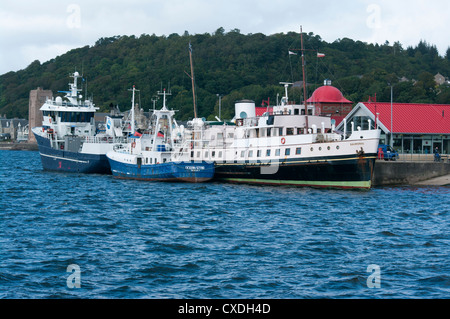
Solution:
[[[42,167],[46,171],[111,174],[108,158],[105,154],[87,154],[54,149],[50,140],[35,134]]]

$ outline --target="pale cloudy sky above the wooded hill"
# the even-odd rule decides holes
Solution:
[[[0,74],[94,45],[101,37],[239,29],[243,34],[303,32],[327,42],[421,40],[444,56],[449,0],[14,0],[0,4]],[[324,52],[325,53],[325,52]]]

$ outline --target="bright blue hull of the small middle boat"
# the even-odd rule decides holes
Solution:
[[[214,177],[214,164],[207,162],[168,162],[153,165],[124,163],[108,158],[114,177],[143,181],[200,183]]]

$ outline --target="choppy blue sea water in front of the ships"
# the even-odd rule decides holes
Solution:
[[[118,180],[0,151],[0,298],[448,298],[449,195]]]

